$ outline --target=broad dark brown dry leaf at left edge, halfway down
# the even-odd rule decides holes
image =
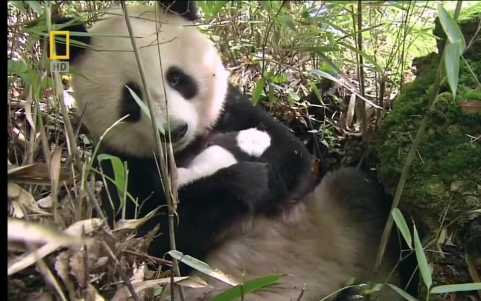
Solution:
[[[52,182],[50,178],[50,168],[45,162],[8,168],[8,181],[11,182],[50,186]],[[59,181],[68,183],[70,180],[70,169],[60,167]]]

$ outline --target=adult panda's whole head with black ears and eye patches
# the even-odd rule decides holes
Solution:
[[[215,45],[192,22],[193,1],[158,2],[157,8],[141,5],[127,10],[154,115],[166,131],[170,120],[173,147],[179,151],[215,124],[223,108],[228,72]],[[102,143],[129,155],[152,155],[156,150],[152,121],[125,87],[148,107],[123,10],[112,9],[100,19],[88,29],[90,37],[70,35],[70,68],[78,73],[72,76],[78,112],[85,110],[84,122],[95,140],[128,114]],[[64,25],[60,30],[87,32],[78,22]],[[73,39],[89,48],[75,47]],[[62,45],[56,47],[61,55]]]

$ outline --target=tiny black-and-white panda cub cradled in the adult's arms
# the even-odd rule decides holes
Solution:
[[[261,129],[250,128],[239,132],[212,135],[204,151],[199,153],[188,166],[177,169],[178,188],[208,177],[217,170],[237,162],[259,158],[271,145],[271,137]],[[262,189],[262,185],[259,189]]]

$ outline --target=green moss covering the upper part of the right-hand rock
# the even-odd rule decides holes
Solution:
[[[421,76],[397,97],[393,112],[377,133],[375,149],[379,158],[379,177],[391,192],[399,181],[432,90],[439,56],[433,55],[431,59]],[[481,80],[481,62],[469,62],[469,65]],[[479,140],[473,143],[470,138],[481,135],[481,113],[465,114],[460,106],[461,101],[479,99],[481,89],[466,64],[461,62],[456,98],[453,99],[447,82],[441,86],[434,112],[411,165],[403,192],[405,205],[423,212],[429,209],[434,218],[441,216],[448,204],[451,209],[448,217],[481,206],[481,192],[477,186],[481,177],[481,144]]]

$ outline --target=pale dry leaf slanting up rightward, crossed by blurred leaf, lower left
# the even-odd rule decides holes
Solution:
[[[69,226],[67,229],[65,229],[65,233],[69,235],[80,236],[83,229],[85,229],[84,233],[88,234],[98,229],[100,226],[102,226],[102,224],[102,219],[83,220]],[[60,246],[61,245],[59,245],[58,243],[48,243],[38,248],[36,252],[30,252],[24,254],[23,256],[15,258],[11,262],[8,262],[7,276],[10,276],[14,273],[17,273],[18,271],[23,270],[26,267],[29,267],[30,265],[37,262],[37,260],[42,259],[57,250]]]

